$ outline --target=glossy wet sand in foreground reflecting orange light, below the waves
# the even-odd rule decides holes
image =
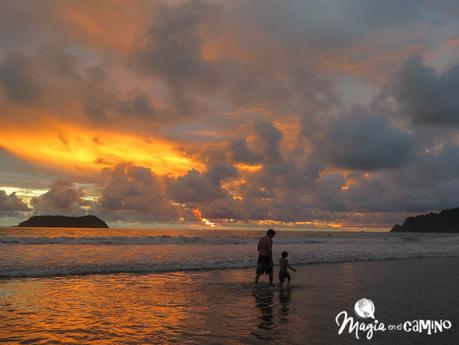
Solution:
[[[253,269],[0,281],[9,344],[457,344],[459,258],[299,266],[290,289],[254,286]],[[277,271],[276,271],[277,274]],[[266,282],[267,277],[264,277]],[[277,280],[277,277],[276,277]],[[386,324],[450,320],[428,336],[338,335],[340,311],[370,298]]]

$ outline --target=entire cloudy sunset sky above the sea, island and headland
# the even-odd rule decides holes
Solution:
[[[458,17],[0,0],[0,225],[369,229],[457,207]]]

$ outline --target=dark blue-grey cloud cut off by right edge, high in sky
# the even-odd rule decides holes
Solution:
[[[413,57],[397,74],[393,94],[400,114],[414,125],[459,125],[459,64],[436,72],[420,57]]]

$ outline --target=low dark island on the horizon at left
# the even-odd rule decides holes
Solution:
[[[33,216],[19,227],[59,227],[59,228],[108,228],[108,225],[96,216],[68,217],[68,216]]]

